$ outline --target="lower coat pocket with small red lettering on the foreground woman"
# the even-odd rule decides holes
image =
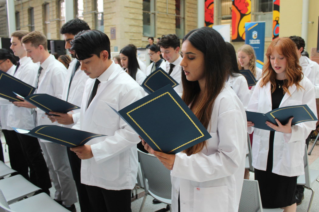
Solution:
[[[194,188],[194,212],[227,212],[227,186]]]

